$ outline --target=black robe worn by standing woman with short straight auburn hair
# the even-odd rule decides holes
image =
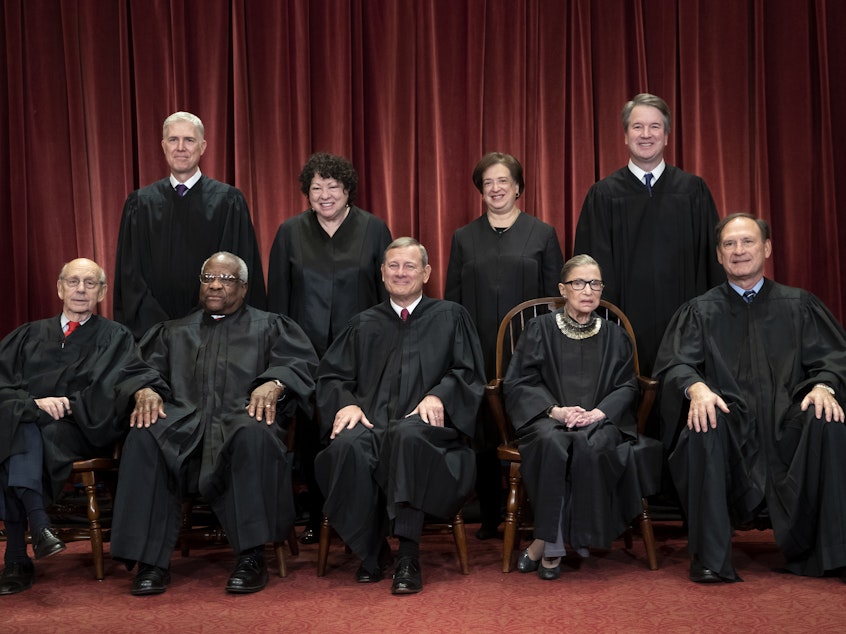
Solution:
[[[453,234],[444,299],[470,313],[487,380],[496,374],[499,322],[521,302],[558,295],[563,265],[555,229],[527,213],[502,233],[483,214]]]

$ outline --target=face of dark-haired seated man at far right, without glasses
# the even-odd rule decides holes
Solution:
[[[717,243],[717,260],[728,281],[749,290],[764,276],[764,263],[772,254],[772,243],[764,240],[754,220],[736,218],[723,227]]]

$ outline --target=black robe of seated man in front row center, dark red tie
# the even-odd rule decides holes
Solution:
[[[374,542],[372,533],[379,519],[372,509],[378,495],[374,477],[386,486],[385,478],[374,473],[381,439],[389,425],[402,425],[398,419],[427,394],[437,396],[444,405],[445,428],[430,430],[437,436],[432,440],[437,449],[449,454],[444,461],[451,473],[418,461],[413,478],[389,484],[398,501],[426,497],[431,506],[421,510],[432,515],[448,517],[458,511],[473,487],[473,457],[464,440],[473,436],[484,384],[476,330],[467,311],[453,302],[424,296],[407,322],[390,302],[383,302],[355,316],[329,348],[320,361],[317,380],[322,435],[328,439],[335,414],[347,405],[361,407],[374,425],[372,431],[360,423],[342,431],[315,461],[317,480],[326,496],[326,514],[357,555],[366,554],[365,542],[378,548],[380,537]],[[333,444],[352,433],[366,434],[374,454],[362,457],[373,469],[359,472],[356,481],[341,477],[337,460],[343,456],[333,452]],[[469,465],[453,464],[452,455]],[[388,474],[387,479],[391,478]]]

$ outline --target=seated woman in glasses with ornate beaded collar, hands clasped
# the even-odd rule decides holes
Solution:
[[[566,304],[526,325],[504,383],[535,514],[517,569],[546,580],[561,575],[565,544],[583,557],[608,548],[641,510],[631,340],[593,312],[603,283],[592,257],[568,260],[558,288]]]

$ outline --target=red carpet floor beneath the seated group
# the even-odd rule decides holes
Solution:
[[[738,533],[734,557],[744,583],[699,586],[687,580],[686,542],[677,524],[656,525],[658,571],[642,542],[616,542],[586,560],[568,559],[562,577],[500,572],[500,540],[480,542],[468,526],[471,573],[460,574],[449,536],[424,538],[425,587],[395,597],[390,581],[357,585],[354,557],[333,541],[327,575],[315,574],[317,547],[288,558],[285,579],[246,596],[223,586],[227,549],[174,555],[164,595],[133,597],[131,573],[107,561],[93,578],[87,543],[38,562],[35,586],[0,597],[3,634],[18,632],[844,632],[846,583],[778,572],[769,531]],[[271,565],[275,565],[270,551]]]

